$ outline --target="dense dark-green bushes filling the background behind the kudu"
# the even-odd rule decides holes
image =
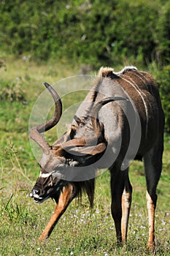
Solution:
[[[169,62],[169,1],[0,1],[0,50],[116,66]]]

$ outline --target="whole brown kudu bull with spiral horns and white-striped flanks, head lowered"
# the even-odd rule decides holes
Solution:
[[[41,133],[58,123],[62,105],[56,91],[47,83],[45,86],[54,99],[55,114],[30,132],[31,139],[43,151],[39,162],[41,172],[30,196],[38,203],[52,197],[57,205],[39,240],[50,236],[69,203],[83,190],[93,206],[95,172],[107,168],[111,175],[111,211],[117,241],[125,243],[132,193],[128,165],[133,159],[143,159],[149,215],[148,248],[154,249],[164,115],[158,87],[151,75],[139,72],[136,67],[125,67],[121,72],[101,68],[70,129],[52,146]]]

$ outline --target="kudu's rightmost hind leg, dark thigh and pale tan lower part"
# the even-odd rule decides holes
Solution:
[[[162,170],[162,150],[152,148],[144,156],[144,169],[147,181],[147,211],[149,217],[149,239],[147,247],[155,249],[155,208],[157,202],[156,187]]]

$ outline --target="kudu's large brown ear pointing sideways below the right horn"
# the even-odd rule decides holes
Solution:
[[[96,154],[102,153],[106,149],[105,143],[98,143],[96,146],[83,146],[83,147],[74,147],[69,149],[70,154],[76,154],[77,156],[82,156],[84,154],[90,154],[94,156]]]

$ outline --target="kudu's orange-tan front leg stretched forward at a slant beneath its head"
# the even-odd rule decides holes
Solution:
[[[53,212],[50,222],[48,222],[45,230],[42,232],[42,235],[39,236],[39,241],[44,241],[50,236],[56,223],[61,218],[64,211],[66,211],[66,208],[69,206],[69,203],[72,202],[73,198],[72,184],[69,184],[67,187],[63,187],[63,191],[59,197],[58,204],[55,206],[55,211]]]

